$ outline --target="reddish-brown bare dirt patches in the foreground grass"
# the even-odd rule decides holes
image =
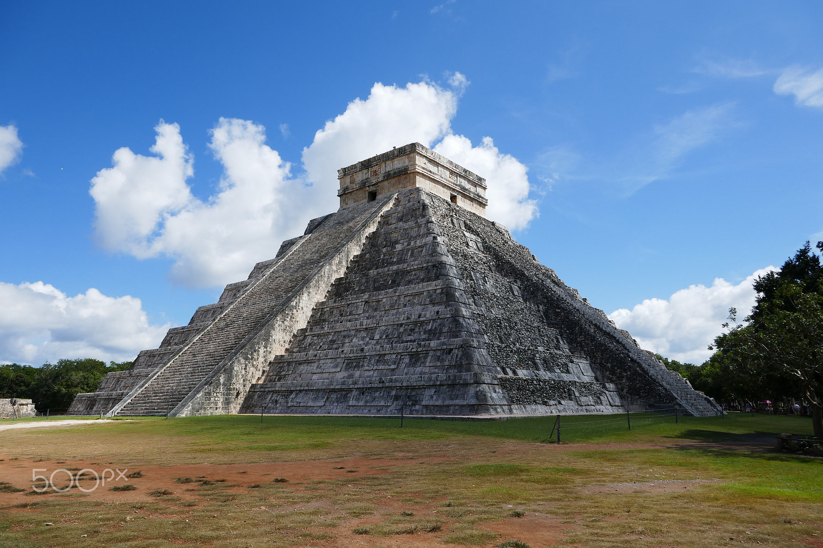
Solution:
[[[506,445],[506,444],[503,444]],[[542,449],[548,453],[566,453],[570,450],[585,448],[591,449],[625,449],[625,448],[647,448],[653,447],[648,444],[568,444],[558,446],[543,445]],[[347,480],[360,476],[390,476],[398,469],[410,465],[409,457],[401,458],[348,458],[348,459],[323,459],[316,461],[301,462],[263,462],[245,464],[179,464],[174,466],[137,466],[123,467],[115,462],[98,462],[90,460],[72,460],[72,462],[42,460],[32,462],[26,460],[11,460],[14,457],[2,455],[4,460],[0,461],[0,478],[10,482],[12,485],[20,485],[30,489],[32,484],[32,469],[45,469],[47,476],[58,469],[67,469],[77,475],[81,469],[88,469],[97,474],[102,474],[107,468],[122,472],[123,475],[132,474],[139,471],[142,477],[113,481],[119,474],[109,472],[109,481],[105,485],[98,485],[91,476],[89,480],[80,481],[83,489],[88,490],[81,496],[84,500],[100,501],[103,503],[139,503],[153,502],[156,497],[149,495],[151,492],[162,491],[166,497],[184,501],[202,501],[203,492],[198,489],[201,481],[212,482],[220,487],[221,492],[244,494],[255,489],[254,485],[261,485],[274,482],[275,479],[287,490],[295,495],[305,494],[306,482]],[[11,458],[11,459],[10,459]],[[429,456],[414,456],[415,465],[437,465],[444,460],[450,459],[448,454],[430,454]],[[38,472],[42,473],[42,472]],[[136,490],[111,491],[112,486],[134,485]],[[186,483],[180,483],[186,481]],[[661,493],[672,490],[688,490],[705,483],[713,483],[712,480],[695,481],[638,481],[604,485],[586,485],[579,488],[579,492],[585,494],[595,493]],[[54,484],[59,488],[67,485],[67,473],[60,471],[54,476]],[[351,487],[351,485],[348,485]],[[27,508],[26,503],[40,499],[58,499],[67,496],[77,496],[78,489],[73,488],[66,494],[58,494],[49,491],[45,495],[30,495],[30,493],[0,493],[0,505],[12,507],[7,508],[7,512],[33,512],[34,509]],[[333,538],[323,539],[323,528],[309,527],[305,529],[305,535],[315,535],[311,541],[311,546],[323,546],[325,548],[342,547],[370,547],[376,546],[373,536],[357,534],[356,531],[363,527],[373,527],[379,522],[383,522],[386,516],[400,515],[401,513],[412,513],[418,518],[430,517],[445,519],[441,527],[446,528],[449,522],[447,509],[442,508],[438,503],[444,502],[444,497],[424,501],[421,499],[422,493],[407,493],[405,496],[385,496],[379,499],[372,499],[370,504],[374,510],[370,515],[362,518],[352,518],[342,523],[342,527],[337,527]],[[177,504],[180,504],[177,503]],[[545,504],[546,512],[523,512],[522,516],[509,516],[502,520],[477,523],[477,529],[481,531],[493,532],[498,535],[494,542],[473,543],[477,546],[498,546],[507,540],[518,540],[527,543],[529,546],[554,546],[563,541],[570,533],[578,531],[580,527],[574,523],[565,521],[564,518],[551,514],[551,503]],[[14,508],[16,507],[16,508]],[[514,507],[513,507],[514,509]],[[284,513],[290,511],[323,511],[340,512],[341,506],[329,499],[319,499],[309,503],[286,503],[277,504],[274,507],[261,505],[249,509],[255,513]],[[125,525],[128,521],[138,519],[164,518],[164,519],[184,519],[185,509],[180,509],[179,514],[156,513],[151,509],[134,509],[133,515],[125,518]],[[190,517],[190,516],[189,516]],[[217,518],[215,515],[214,518]],[[198,520],[193,520],[197,522]],[[416,534],[393,535],[379,539],[379,546],[386,548],[446,548],[455,546],[443,541],[442,535],[436,532],[416,531]]]

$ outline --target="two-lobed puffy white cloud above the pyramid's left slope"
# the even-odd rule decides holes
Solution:
[[[92,179],[96,234],[105,248],[137,258],[174,258],[172,279],[220,286],[272,258],[319,210],[291,165],[264,144],[263,126],[221,118],[209,144],[223,165],[217,192],[203,202],[190,192],[192,160],[176,124],[160,123],[151,151],[114,153],[114,167]]]

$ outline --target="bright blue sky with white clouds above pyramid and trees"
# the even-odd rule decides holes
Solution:
[[[823,239],[819,2],[236,3],[0,6],[0,362],[156,346],[411,141],[677,359]]]

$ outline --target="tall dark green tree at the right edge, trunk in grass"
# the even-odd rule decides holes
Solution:
[[[823,250],[823,242],[818,242]],[[778,272],[754,284],[757,302],[746,324],[714,340],[712,360],[733,372],[744,390],[772,383],[797,390],[811,406],[814,433],[823,437],[823,266],[807,242]],[[736,311],[729,314],[736,323]],[[729,327],[728,323],[723,327]],[[709,346],[711,349],[712,346]]]

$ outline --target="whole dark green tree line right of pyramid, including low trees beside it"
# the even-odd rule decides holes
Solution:
[[[816,249],[823,251],[823,242]],[[726,330],[702,365],[658,355],[668,369],[717,402],[802,400],[814,433],[823,437],[823,264],[809,242],[779,271],[754,283],[756,304],[739,319],[729,309]]]

